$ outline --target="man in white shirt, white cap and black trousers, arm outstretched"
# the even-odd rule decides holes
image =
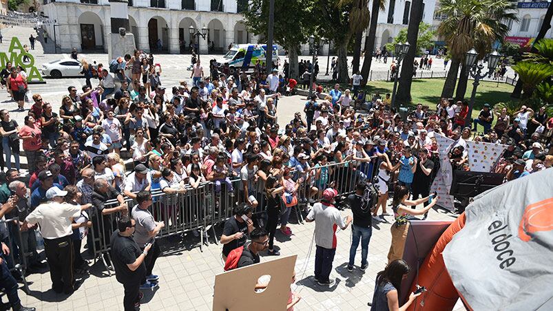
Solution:
[[[63,203],[67,191],[61,191],[52,186],[46,191],[48,202],[40,204],[26,218],[21,230],[28,230],[39,224],[41,235],[44,238],[44,251],[50,279],[55,292],[72,294],[75,278],[73,275],[73,240],[71,235],[72,219],[81,216],[81,211],[90,208],[92,204],[82,206]]]

